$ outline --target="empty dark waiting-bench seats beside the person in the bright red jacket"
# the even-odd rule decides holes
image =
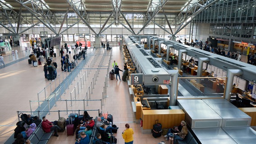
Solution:
[[[40,125],[32,133],[32,135],[29,136],[28,139],[31,141],[32,144],[47,144],[52,134],[53,131],[45,133]]]

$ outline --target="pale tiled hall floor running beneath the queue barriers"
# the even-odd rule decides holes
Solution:
[[[16,47],[14,49],[22,51],[24,49],[24,45],[20,48]],[[134,144],[158,144],[162,140],[165,141],[163,136],[153,138],[151,133],[142,133],[140,124],[135,122],[127,82],[117,81],[116,79],[111,81],[108,77],[108,72],[112,69],[112,63],[114,60],[118,63],[119,68],[123,69],[123,56],[120,49],[118,47],[113,47],[112,50],[108,51],[105,51],[105,49],[96,49],[95,51],[93,49],[89,49],[89,51],[93,51],[91,58],[87,61],[85,67],[81,69],[78,76],[73,80],[73,83],[69,85],[69,88],[66,89],[65,94],[61,96],[61,99],[56,103],[56,106],[51,108],[51,111],[66,110],[66,108],[68,108],[68,110],[83,109],[83,101],[81,100],[87,99],[87,97],[90,97],[90,100],[102,99],[103,87],[106,85],[107,98],[103,99],[102,112],[111,113],[114,117],[114,124],[119,127],[118,133],[114,134],[118,139],[118,144],[124,143],[121,132],[125,129],[124,125],[126,123],[129,123],[130,127],[134,130]],[[89,51],[88,54],[90,53]],[[24,57],[24,55],[20,55],[20,58]],[[71,56],[73,56],[73,52],[70,54],[70,57]],[[32,111],[35,110],[38,107],[37,93],[43,90],[44,87],[50,83],[52,90],[54,90],[55,85],[58,86],[59,83],[61,83],[69,74],[61,72],[60,57],[58,54],[57,58],[53,59],[58,63],[57,73],[59,76],[57,76],[55,81],[51,82],[44,78],[42,65],[32,67],[32,65],[27,63],[27,59],[18,63],[10,64],[7,67],[0,68],[0,144],[4,144],[10,135],[14,133],[13,130],[16,127],[16,122],[18,121],[17,111],[28,113],[30,111],[30,100]],[[243,59],[246,59],[246,56],[243,56]],[[7,59],[5,60],[6,63],[12,63],[12,61],[8,62]],[[88,67],[90,68],[90,73],[88,72]],[[100,68],[99,71],[97,71],[96,68]],[[109,70],[107,68],[109,68]],[[83,74],[85,74],[85,77],[82,77]],[[122,76],[122,72],[120,72],[120,75]],[[106,76],[107,78],[105,78]],[[93,81],[92,78],[95,80],[94,86],[91,86]],[[81,79],[83,81],[82,89],[80,85]],[[106,84],[104,83],[105,79],[107,80]],[[76,90],[80,90],[79,94],[78,91],[76,91],[77,99],[74,99],[74,87],[76,87]],[[92,94],[89,96],[89,93],[91,93],[89,89],[91,90],[91,87],[94,88],[92,90]],[[47,86],[46,92],[50,93],[49,86]],[[70,98],[70,93],[72,98]],[[39,97],[40,100],[44,100],[45,98],[42,92],[39,94]],[[68,101],[66,106],[65,99],[73,99],[73,106],[70,106],[70,101]],[[88,106],[85,104],[85,109],[101,110],[101,103],[100,101],[88,101]],[[89,111],[89,114],[92,117],[97,116],[97,112],[95,111]],[[60,116],[68,117],[68,114],[66,114],[66,112],[60,112]],[[58,113],[51,112],[50,114],[47,114],[46,117],[50,121],[54,121],[58,119]],[[49,144],[74,144],[74,142],[75,136],[66,136],[66,132],[64,131],[59,133],[59,137],[51,137]]]

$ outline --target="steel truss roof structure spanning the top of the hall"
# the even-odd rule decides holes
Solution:
[[[92,33],[101,34],[112,24],[127,28],[138,35],[151,22],[175,35],[203,9],[219,0],[0,0],[0,26],[21,34],[19,27],[43,24],[56,35],[85,24]],[[91,25],[101,25],[94,31]],[[59,31],[55,26],[60,25]],[[64,30],[62,27],[67,26]],[[139,31],[133,25],[140,25]],[[171,26],[179,25],[176,31]]]

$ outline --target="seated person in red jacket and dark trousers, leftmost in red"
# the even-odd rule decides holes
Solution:
[[[42,122],[42,128],[43,130],[48,133],[52,130],[54,130],[54,136],[59,136],[58,135],[58,130],[61,130],[61,128],[57,125],[54,125],[53,123],[51,123],[50,121],[48,121],[46,119],[46,116],[43,116],[43,122]]]

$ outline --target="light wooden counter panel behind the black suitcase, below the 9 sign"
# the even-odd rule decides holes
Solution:
[[[155,120],[162,124],[162,128],[179,126],[185,119],[182,109],[143,110],[143,129],[152,129]]]

